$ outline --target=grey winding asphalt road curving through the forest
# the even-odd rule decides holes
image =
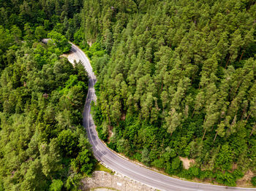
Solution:
[[[94,156],[97,158],[97,160],[101,161],[107,165],[108,168],[111,168],[113,171],[116,171],[119,174],[134,179],[135,181],[142,182],[143,184],[147,184],[151,187],[157,188],[158,190],[256,190],[252,188],[222,187],[212,184],[201,184],[196,182],[188,182],[181,179],[175,179],[170,176],[165,176],[155,171],[151,171],[147,168],[143,168],[140,165],[136,165],[135,163],[131,163],[108,149],[108,147],[106,147],[105,144],[103,144],[97,136],[94,121],[92,120],[90,114],[91,101],[96,100],[94,84],[97,79],[94,75],[94,72],[92,71],[89,59],[86,57],[84,52],[75,46],[75,44],[72,44],[71,51],[76,55],[77,58],[80,59],[80,61],[82,61],[86,71],[88,71],[89,74],[89,91],[83,110],[83,125],[86,128],[89,141],[94,151]]]

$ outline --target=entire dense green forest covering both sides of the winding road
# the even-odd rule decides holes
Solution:
[[[108,147],[186,179],[235,186],[250,171],[256,186],[254,0],[0,7],[0,190],[75,190],[91,174],[87,77],[60,57],[67,39],[97,74],[94,121]]]

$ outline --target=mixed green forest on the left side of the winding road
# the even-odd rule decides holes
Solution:
[[[57,15],[45,3],[0,1],[0,190],[79,190],[96,162],[82,126],[88,77],[61,56],[61,18],[80,5]]]

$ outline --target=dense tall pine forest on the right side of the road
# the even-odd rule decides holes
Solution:
[[[256,173],[255,1],[88,0],[81,17],[111,149],[187,179]]]

